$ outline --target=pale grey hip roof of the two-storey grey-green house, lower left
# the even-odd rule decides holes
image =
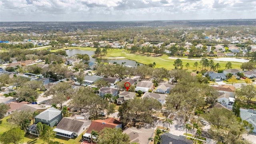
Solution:
[[[51,108],[41,112],[40,114],[38,114],[35,118],[39,118],[39,119],[43,119],[43,120],[52,120],[59,114],[61,114],[60,110],[57,110],[56,108],[51,107]]]

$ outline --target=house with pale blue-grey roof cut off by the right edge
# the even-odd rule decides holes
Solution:
[[[254,130],[252,132],[256,132],[256,112],[255,110],[248,110],[248,109],[242,109],[240,108],[240,118],[242,120],[246,120],[252,126],[254,127]]]

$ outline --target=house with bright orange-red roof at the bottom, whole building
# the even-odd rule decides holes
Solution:
[[[107,118],[105,120],[94,120],[90,124],[89,128],[86,130],[86,133],[83,135],[83,140],[90,141],[92,130],[100,132],[103,128],[122,128],[122,123],[114,118]]]

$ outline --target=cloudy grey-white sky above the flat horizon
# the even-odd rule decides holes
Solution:
[[[256,0],[0,0],[0,22],[241,18],[256,18]]]

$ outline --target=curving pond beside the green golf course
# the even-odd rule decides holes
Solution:
[[[92,58],[91,56],[94,55],[94,51],[91,51],[91,50],[66,50],[66,53],[68,56],[73,56],[75,54],[88,54],[89,57],[90,57],[90,62],[96,62],[96,58]],[[109,60],[106,60],[106,59],[100,59],[101,62],[107,62],[107,63],[114,63],[114,62],[117,62],[118,64],[122,64],[124,63],[125,65],[128,65],[128,66],[136,66],[136,61],[134,60],[114,60],[114,59],[109,59]]]

